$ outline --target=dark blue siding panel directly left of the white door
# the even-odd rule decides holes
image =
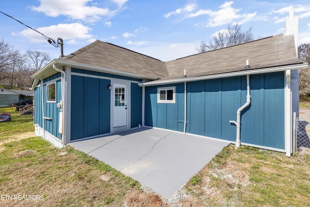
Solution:
[[[110,80],[71,77],[71,140],[110,132]]]

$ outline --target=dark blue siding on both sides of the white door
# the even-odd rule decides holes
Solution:
[[[140,81],[124,76],[98,73],[89,70],[72,68],[73,72],[100,76],[100,78],[79,75],[71,76],[71,130],[70,140],[78,140],[110,133],[111,98],[108,86],[109,79]],[[130,85],[130,128],[138,127],[142,123],[142,88],[138,83]]]

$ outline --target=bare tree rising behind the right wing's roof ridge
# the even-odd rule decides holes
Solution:
[[[219,48],[226,48],[241,43],[246,43],[254,40],[254,33],[252,27],[247,31],[242,31],[239,24],[228,25],[227,30],[218,31],[215,36],[209,40],[209,42],[201,41],[200,45],[196,45],[196,50],[199,53],[215,50]]]

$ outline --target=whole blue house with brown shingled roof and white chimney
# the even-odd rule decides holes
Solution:
[[[168,62],[97,40],[32,76],[35,132],[62,147],[156,127],[290,156],[308,66],[296,25],[291,16],[283,34]]]

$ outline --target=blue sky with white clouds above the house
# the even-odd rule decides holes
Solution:
[[[255,37],[284,32],[285,19],[299,16],[298,45],[310,43],[309,0],[1,0],[0,11],[48,37],[64,41],[64,55],[96,39],[169,61],[197,53],[228,24],[253,28]],[[54,48],[37,32],[0,13],[0,38],[24,53]]]

